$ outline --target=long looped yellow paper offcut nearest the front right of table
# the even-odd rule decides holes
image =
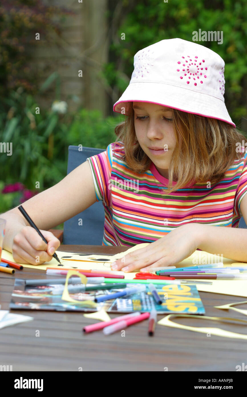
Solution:
[[[201,333],[206,333],[210,335],[216,335],[216,336],[222,336],[225,338],[235,338],[235,339],[247,339],[247,335],[244,335],[243,333],[235,333],[235,332],[230,332],[230,331],[225,331],[222,330],[221,328],[208,328],[208,327],[190,327],[186,326],[183,324],[177,324],[174,323],[173,321],[170,321],[170,318],[172,317],[193,317],[197,318],[200,320],[213,320],[213,321],[220,321],[220,322],[236,322],[240,324],[246,324],[246,320],[239,320],[236,318],[231,318],[231,317],[207,317],[207,316],[193,316],[191,314],[168,314],[168,316],[162,318],[160,321],[157,322],[157,324],[164,325],[167,327],[172,327],[172,328],[180,328],[181,330],[189,330],[189,331],[194,331],[194,332],[201,332]]]

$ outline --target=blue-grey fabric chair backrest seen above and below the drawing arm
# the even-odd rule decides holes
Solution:
[[[84,163],[87,157],[104,152],[105,149],[82,148],[79,146],[69,146],[69,157],[67,174],[73,171],[80,164]],[[83,189],[83,175],[81,178],[81,188]],[[73,203],[71,203],[73,205]],[[82,219],[82,225],[79,225]],[[104,231],[105,212],[101,201],[97,201],[86,210],[68,219],[63,224],[63,244],[78,245],[102,245]]]

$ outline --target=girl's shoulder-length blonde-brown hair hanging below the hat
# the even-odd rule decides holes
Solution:
[[[123,142],[123,161],[138,174],[149,170],[151,159],[136,138],[133,102],[130,104],[130,115],[115,127],[115,142]],[[234,160],[243,157],[243,153],[236,151],[236,146],[245,141],[245,136],[225,121],[176,109],[172,111],[176,146],[168,170],[166,193],[183,188],[191,180],[195,183],[210,181],[211,185],[218,183]],[[175,180],[177,183],[172,186]]]

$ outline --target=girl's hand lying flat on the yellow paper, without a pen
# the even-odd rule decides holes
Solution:
[[[164,237],[117,259],[112,270],[148,272],[149,268],[172,266],[188,258],[198,248],[200,224],[186,224],[176,227]],[[115,265],[114,265],[115,264]]]

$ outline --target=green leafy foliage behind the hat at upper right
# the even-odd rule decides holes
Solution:
[[[115,1],[110,0],[111,5]],[[215,41],[198,42],[219,54],[225,61],[226,107],[238,126],[240,118],[247,117],[247,2],[245,0],[132,0],[125,1],[122,13],[126,17],[119,19],[117,32],[111,44],[112,60],[104,73],[110,85],[115,85],[119,96],[128,86],[124,82],[122,71],[131,78],[134,54],[155,42],[164,39],[193,41],[193,31],[223,31],[223,43]],[[125,40],[121,40],[125,33]],[[111,71],[115,74],[111,75]]]

